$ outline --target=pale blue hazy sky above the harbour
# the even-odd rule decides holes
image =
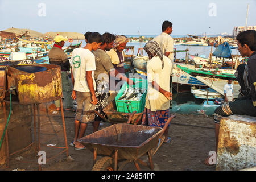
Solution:
[[[169,20],[172,35],[232,34],[247,4],[247,26],[256,26],[256,0],[0,0],[0,30],[158,35]]]

